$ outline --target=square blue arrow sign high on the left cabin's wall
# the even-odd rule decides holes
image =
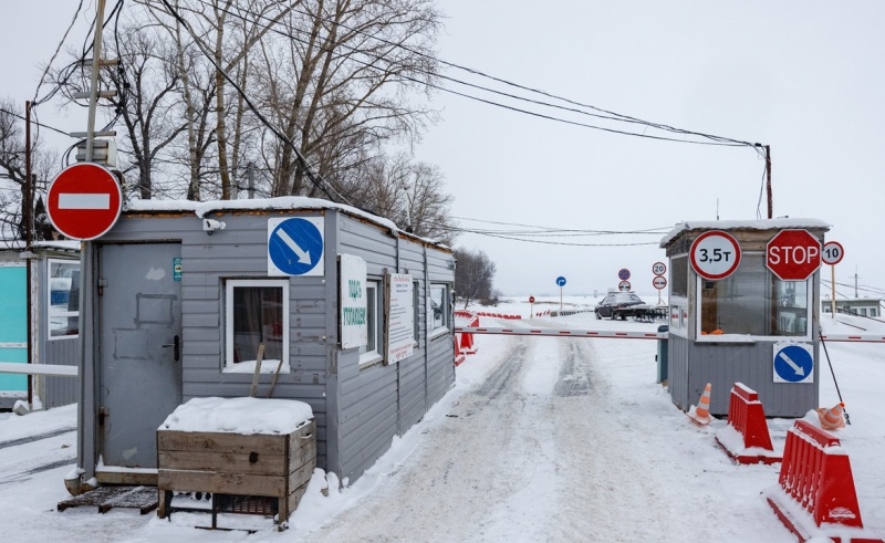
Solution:
[[[323,218],[268,219],[268,275],[324,275]]]

